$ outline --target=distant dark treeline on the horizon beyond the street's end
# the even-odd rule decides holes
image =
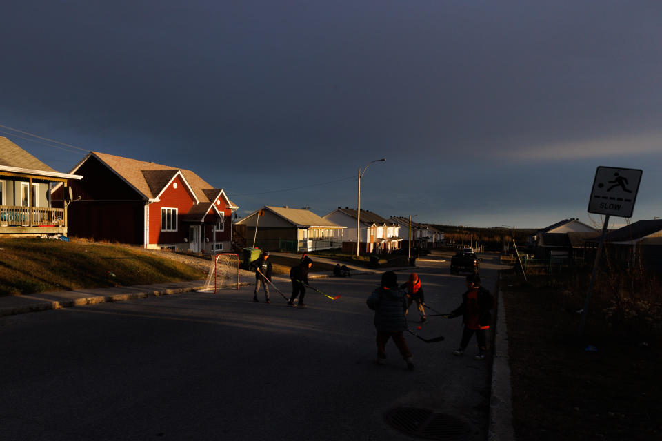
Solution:
[[[450,243],[479,243],[483,245],[485,251],[502,251],[504,245],[512,240],[512,228],[506,227],[464,227],[464,241],[462,240],[462,225],[434,225],[433,227],[444,232],[445,240]],[[515,241],[523,245],[528,236],[536,232],[531,228],[516,228]]]

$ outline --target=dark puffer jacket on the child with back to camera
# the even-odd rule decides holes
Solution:
[[[377,331],[399,332],[407,329],[407,298],[405,291],[397,285],[375,289],[365,303],[374,310],[374,327]]]

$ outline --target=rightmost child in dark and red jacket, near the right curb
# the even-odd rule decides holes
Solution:
[[[487,329],[490,328],[490,319],[492,318],[490,309],[494,307],[494,298],[490,291],[481,287],[481,276],[478,274],[467,276],[466,286],[467,291],[462,294],[461,305],[448,315],[448,318],[462,316],[464,323],[460,347],[453,351],[453,354],[461,356],[464,350],[467,349],[472,336],[476,334],[478,355],[474,358],[484,360],[485,351],[487,350],[485,334]]]

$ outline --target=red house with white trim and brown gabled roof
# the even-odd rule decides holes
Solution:
[[[232,249],[238,207],[200,176],[177,167],[90,152],[73,168],[71,236],[192,252]],[[54,190],[62,198],[62,188]]]

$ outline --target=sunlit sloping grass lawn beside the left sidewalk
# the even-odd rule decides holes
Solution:
[[[0,296],[205,276],[198,269],[140,249],[87,241],[0,238]]]

